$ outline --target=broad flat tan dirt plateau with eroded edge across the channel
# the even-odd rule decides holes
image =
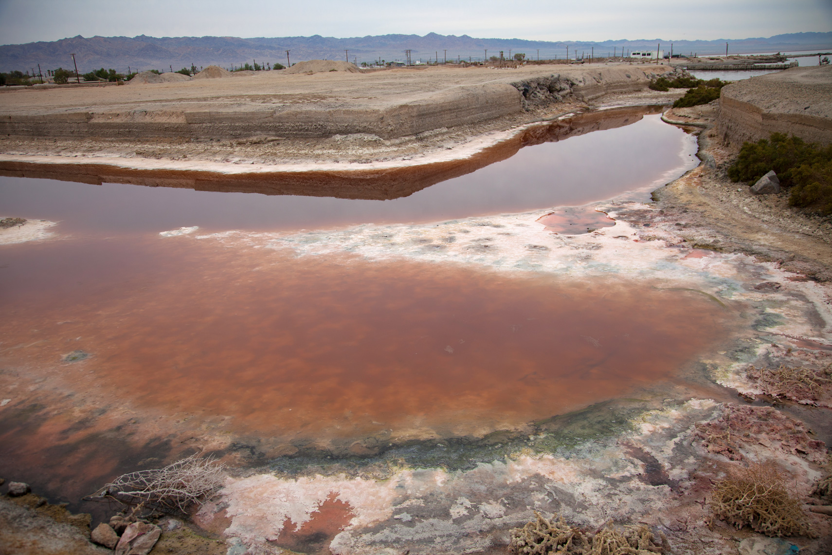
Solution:
[[[552,65],[505,71],[263,72],[83,92],[15,91],[3,97],[0,133],[130,140],[364,133],[390,139],[522,114],[530,97],[539,105],[641,91],[653,74],[668,71],[664,66]]]

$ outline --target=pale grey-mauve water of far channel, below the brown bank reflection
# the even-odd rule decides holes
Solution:
[[[192,225],[204,230],[295,230],[443,221],[577,206],[625,193],[646,201],[651,189],[699,163],[696,137],[650,111],[656,110],[607,111],[615,128],[598,121],[582,132],[603,131],[560,141],[556,133],[542,144],[519,151],[514,146],[501,155],[506,156],[502,161],[389,200],[97,186],[6,176],[0,177],[2,215],[60,221],[58,231],[121,234]],[[360,190],[362,183],[352,186]],[[309,194],[318,193],[310,189]]]

